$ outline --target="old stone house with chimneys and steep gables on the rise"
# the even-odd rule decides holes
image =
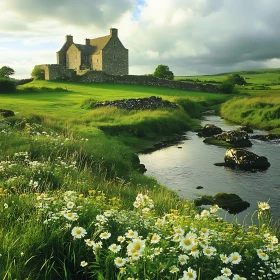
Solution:
[[[85,44],[76,44],[72,35],[57,52],[57,64],[66,69],[80,71],[90,69],[111,75],[128,75],[128,49],[118,37],[118,29],[111,28],[110,35],[85,39]]]

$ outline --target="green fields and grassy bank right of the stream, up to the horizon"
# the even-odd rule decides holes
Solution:
[[[260,69],[234,72],[245,78],[237,86],[240,96],[222,104],[223,118],[243,125],[280,134],[280,69]],[[177,77],[203,83],[221,84],[229,73],[218,75]]]

